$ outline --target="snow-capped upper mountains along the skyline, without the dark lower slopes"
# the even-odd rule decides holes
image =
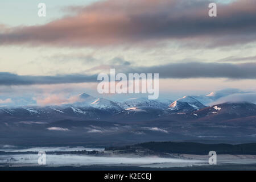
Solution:
[[[114,102],[105,98],[96,98],[82,93],[77,96],[73,104],[52,106],[17,106],[0,107],[1,121],[20,120],[48,120],[78,118],[122,121],[126,119],[155,119],[168,115],[184,114],[200,116],[202,113],[219,115],[233,112],[236,117],[242,113],[254,113],[255,105],[252,103],[222,103],[221,106],[210,106],[210,103],[221,97],[236,93],[236,90],[221,90],[203,96],[184,96],[176,101],[148,100],[147,98],[130,98],[121,102]],[[226,108],[227,107],[227,108]],[[217,109],[216,109],[217,108]],[[220,109],[225,108],[225,109]],[[240,108],[240,110],[234,109]],[[234,110],[236,113],[234,113]],[[228,118],[227,118],[228,119]]]

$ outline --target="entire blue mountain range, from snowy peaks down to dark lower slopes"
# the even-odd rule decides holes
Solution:
[[[213,104],[228,92],[176,101],[114,102],[80,94],[73,104],[0,108],[0,144],[132,144],[164,140],[256,140],[256,105]]]

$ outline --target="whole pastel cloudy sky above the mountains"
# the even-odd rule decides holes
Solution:
[[[46,17],[38,3],[46,3]],[[217,17],[208,16],[210,2]],[[99,95],[98,73],[159,73],[160,98],[256,92],[254,0],[0,2],[0,106]],[[255,94],[252,94],[255,97]]]

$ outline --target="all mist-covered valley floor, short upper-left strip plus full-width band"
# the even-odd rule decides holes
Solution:
[[[86,154],[47,154],[49,151],[101,151],[100,155]],[[0,151],[6,152],[38,152],[46,151],[46,165],[55,166],[138,166],[153,168],[190,167],[204,166],[208,164],[208,155],[180,154],[172,158],[161,158],[159,156],[138,156],[135,154],[111,154],[102,155],[104,148],[86,147],[29,147],[18,148],[16,146],[1,146]],[[0,166],[26,167],[40,166],[37,154],[5,154],[0,155]],[[217,164],[256,164],[255,155],[217,155]]]

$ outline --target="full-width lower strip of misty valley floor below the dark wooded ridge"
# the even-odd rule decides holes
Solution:
[[[0,155],[0,166],[39,166],[38,155]],[[47,155],[47,166],[138,166],[154,168],[203,166],[208,164],[207,155],[181,155],[176,158],[134,157],[134,156],[92,156],[92,155]],[[256,164],[252,155],[220,155],[217,164]]]

